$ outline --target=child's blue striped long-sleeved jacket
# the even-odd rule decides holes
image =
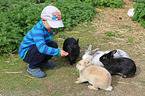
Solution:
[[[19,55],[23,60],[28,50],[36,44],[40,53],[52,56],[59,56],[60,49],[52,48],[46,45],[52,41],[53,31],[48,32],[44,27],[42,19],[25,35],[19,47]]]

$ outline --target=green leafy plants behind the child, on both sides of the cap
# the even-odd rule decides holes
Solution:
[[[2,4],[7,5],[5,2]],[[7,10],[1,11],[0,14],[0,50],[4,52],[18,50],[23,37],[41,19],[41,11],[47,5],[20,1],[15,5],[5,6],[3,10]],[[81,22],[90,22],[95,15],[94,7],[79,1],[61,0],[54,3],[54,6],[61,10],[65,25],[56,31],[69,30]]]

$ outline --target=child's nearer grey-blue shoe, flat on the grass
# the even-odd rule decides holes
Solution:
[[[27,72],[29,74],[32,74],[36,78],[42,78],[42,77],[46,76],[46,74],[44,72],[42,72],[42,70],[40,68],[32,69],[32,68],[29,68],[29,66],[28,66]]]

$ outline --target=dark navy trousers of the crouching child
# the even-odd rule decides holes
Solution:
[[[49,47],[58,48],[57,43],[54,41],[47,43],[47,45]],[[34,45],[28,50],[27,55],[24,58],[24,62],[29,63],[29,67],[34,69],[34,68],[42,66],[42,64],[46,63],[52,57],[53,56],[51,55],[45,55],[45,54],[40,53],[36,45]]]

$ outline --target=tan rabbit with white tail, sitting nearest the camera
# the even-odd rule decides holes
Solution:
[[[104,89],[107,91],[112,91],[111,86],[111,74],[103,67],[90,65],[93,56],[85,60],[80,60],[76,67],[79,70],[79,78],[75,83],[83,83],[88,81],[93,86],[89,85],[89,89],[98,90]]]

